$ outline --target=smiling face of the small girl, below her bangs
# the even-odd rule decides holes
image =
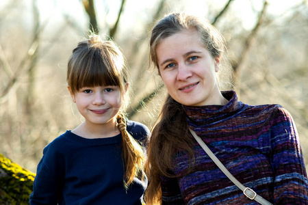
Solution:
[[[116,124],[116,115],[123,100],[120,87],[83,87],[75,95],[71,93],[71,96],[87,126],[99,128]]]

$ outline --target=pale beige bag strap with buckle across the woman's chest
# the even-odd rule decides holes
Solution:
[[[216,163],[216,165],[220,168],[220,170],[238,187],[240,188],[244,195],[246,195],[246,197],[248,197],[251,200],[255,200],[257,202],[259,202],[259,204],[262,205],[270,205],[271,203],[268,202],[267,200],[265,200],[263,197],[261,197],[260,195],[257,195],[257,193],[255,193],[255,191],[253,191],[253,189],[249,188],[249,187],[245,187],[243,184],[241,184],[241,182],[239,182],[229,171],[228,169],[226,169],[226,167],[224,167],[224,165],[222,165],[222,163],[219,161],[219,159],[215,156],[215,154],[213,152],[211,152],[211,150],[209,150],[209,148],[207,147],[207,145],[204,143],[204,141],[198,137],[198,135],[196,135],[196,133],[194,131],[192,131],[192,129],[190,129],[190,133],[192,133],[192,136],[194,136],[194,139],[196,139],[196,141],[198,141],[198,143],[200,144],[200,146],[203,148],[203,150],[205,150],[205,152],[207,153],[207,155],[209,155],[209,157],[211,158],[212,161],[214,161],[214,163]]]

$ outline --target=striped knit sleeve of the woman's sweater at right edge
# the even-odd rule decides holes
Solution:
[[[308,204],[308,180],[296,126],[290,113],[278,107],[270,130],[274,171],[274,204]]]

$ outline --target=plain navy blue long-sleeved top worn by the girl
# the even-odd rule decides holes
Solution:
[[[149,128],[127,120],[127,131],[146,142]],[[86,139],[71,131],[43,150],[30,204],[142,204],[147,180],[123,185],[121,135]],[[144,144],[143,143],[143,144]]]

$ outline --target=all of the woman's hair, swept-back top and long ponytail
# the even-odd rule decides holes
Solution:
[[[162,20],[159,20],[151,32],[150,61],[157,68],[158,72],[159,66],[157,64],[156,49],[159,43],[175,33],[192,29],[198,31],[201,44],[209,51],[211,57],[220,57],[220,64],[227,63],[227,57],[224,56],[224,51],[226,51],[224,38],[207,20],[202,20],[183,12],[171,13],[162,18]],[[229,68],[229,66],[224,68]],[[221,67],[220,70],[222,70]],[[222,74],[225,73],[227,72],[222,72]],[[221,89],[222,82],[218,82]],[[185,112],[182,105],[168,94],[151,133],[147,149],[146,175],[149,178],[149,186],[145,193],[146,203],[162,203],[159,176],[177,177],[172,174],[174,168],[172,156],[179,152],[188,154],[190,165],[192,165],[194,150]],[[190,171],[187,170],[187,172]]]

